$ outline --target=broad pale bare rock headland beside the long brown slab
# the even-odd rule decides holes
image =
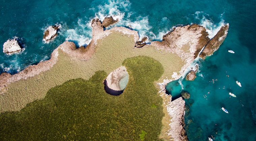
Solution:
[[[205,28],[196,24],[176,27],[170,33],[163,36],[163,41],[151,42],[156,49],[176,53],[185,62],[180,72],[174,79],[179,79],[185,69],[194,61],[199,51],[207,44],[209,34]],[[179,74],[178,74],[179,73]]]

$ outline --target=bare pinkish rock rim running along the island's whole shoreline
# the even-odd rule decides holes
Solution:
[[[104,21],[105,19],[106,21]],[[114,27],[109,30],[104,30],[105,27],[118,21],[118,19],[114,20],[113,18],[105,19],[103,20],[103,22],[101,22],[99,19],[92,20],[92,40],[86,48],[79,47],[76,49],[76,46],[73,42],[66,41],[53,51],[50,60],[40,62],[37,65],[30,65],[23,71],[14,75],[2,73],[0,75],[0,92],[4,93],[6,91],[5,87],[7,87],[12,82],[19,81],[21,79],[27,79],[29,77],[38,75],[41,72],[49,70],[58,60],[59,49],[72,57],[76,57],[81,60],[88,60],[95,52],[97,40],[100,40],[105,36],[108,36],[110,33],[116,31],[121,32],[127,36],[133,36],[134,43],[138,43],[139,36],[137,31],[133,31],[124,27]],[[185,65],[182,67],[180,72],[173,72],[173,79],[164,79],[162,83],[158,83],[161,92],[165,94],[165,85],[172,80],[179,79],[182,76],[185,69],[198,56],[199,52],[204,46],[206,50],[203,50],[202,53],[199,55],[202,58],[205,58],[206,55],[211,55],[214,51],[216,51],[226,38],[228,27],[228,24],[223,26],[212,40],[210,40],[210,38],[208,37],[208,33],[202,26],[193,24],[183,27],[176,27],[173,29],[172,32],[163,36],[163,41],[151,42],[151,46],[155,46],[155,49],[161,49],[169,53],[176,53],[185,62]],[[147,39],[145,38],[143,41],[139,41],[140,45],[144,44],[146,40]],[[171,118],[167,136],[177,141],[187,140],[185,130],[183,128],[183,126],[185,125],[185,101],[182,98],[171,101],[170,98],[167,102],[164,103],[163,106],[168,111],[168,115],[166,116],[168,116],[168,118]]]

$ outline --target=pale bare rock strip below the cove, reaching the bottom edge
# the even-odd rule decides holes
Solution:
[[[169,101],[167,105],[167,111],[171,117],[171,124],[168,130],[168,135],[171,135],[174,141],[188,141],[185,133],[184,111],[185,101],[182,97]]]

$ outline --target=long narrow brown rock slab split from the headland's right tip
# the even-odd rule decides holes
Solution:
[[[223,27],[221,27],[220,31],[207,43],[202,53],[199,57],[205,59],[206,56],[210,56],[219,49],[220,45],[223,43],[225,38],[227,37],[229,24],[227,23]]]

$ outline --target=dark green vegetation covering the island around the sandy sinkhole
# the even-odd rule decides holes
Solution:
[[[159,140],[163,107],[154,81],[163,66],[146,56],[123,65],[129,82],[120,96],[104,91],[104,71],[69,80],[20,111],[1,113],[0,140]]]

